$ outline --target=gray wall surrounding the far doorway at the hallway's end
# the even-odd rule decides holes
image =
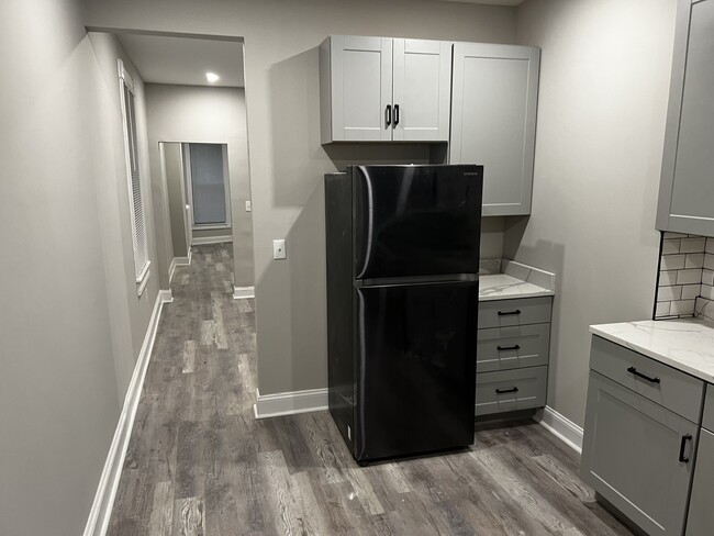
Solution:
[[[236,43],[236,58],[243,53]],[[169,225],[159,214],[167,212],[166,186],[160,174],[159,142],[224,143],[228,146],[231,216],[233,222],[234,281],[238,287],[254,282],[253,217],[245,211],[250,199],[248,146],[243,88],[146,85],[152,188],[157,213],[161,284],[168,288],[168,267],[172,252]],[[193,236],[224,236],[225,230],[194,231]],[[166,279],[165,279],[166,278]]]

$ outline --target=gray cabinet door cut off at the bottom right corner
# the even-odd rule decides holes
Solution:
[[[711,536],[714,527],[714,434],[702,428],[696,454],[692,498],[687,517],[687,536]]]

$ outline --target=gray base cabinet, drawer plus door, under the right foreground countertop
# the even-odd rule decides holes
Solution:
[[[594,336],[581,476],[649,535],[681,535],[704,382]]]

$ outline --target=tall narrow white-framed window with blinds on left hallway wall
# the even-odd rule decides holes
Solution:
[[[138,143],[136,136],[136,114],[134,105],[134,81],[119,60],[119,77],[121,89],[122,119],[124,124],[124,149],[126,153],[126,179],[132,223],[132,241],[134,246],[134,270],[136,276],[136,293],[142,295],[148,282],[150,265],[148,245],[146,242],[146,220],[144,216],[144,199],[138,163]]]

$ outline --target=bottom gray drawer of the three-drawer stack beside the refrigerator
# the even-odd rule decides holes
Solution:
[[[543,407],[547,382],[548,367],[477,373],[476,415]]]

